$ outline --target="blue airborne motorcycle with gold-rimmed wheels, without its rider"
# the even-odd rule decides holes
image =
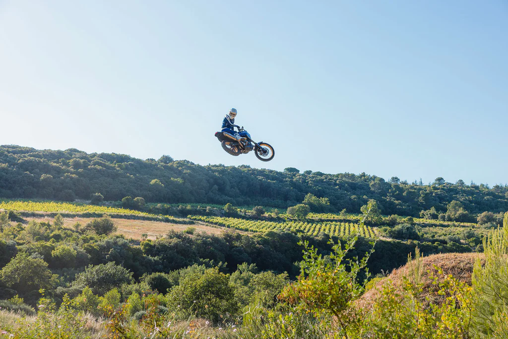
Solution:
[[[215,137],[220,141],[223,149],[232,156],[239,156],[242,153],[248,153],[254,150],[256,157],[261,161],[270,161],[275,156],[273,147],[266,142],[255,142],[250,138],[250,134],[243,129],[238,130],[241,139],[237,140],[227,132],[216,132]]]

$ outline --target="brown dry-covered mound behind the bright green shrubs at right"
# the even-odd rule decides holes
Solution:
[[[471,284],[471,275],[473,272],[474,262],[477,258],[483,260],[483,254],[479,253],[447,253],[434,254],[421,259],[421,283],[423,284],[423,295],[428,296],[431,300],[437,301],[439,297],[432,293],[433,280],[432,276],[438,277],[438,281],[442,281],[437,268],[441,268],[444,274],[452,274],[457,280],[466,284]],[[415,276],[416,261],[412,261],[398,269],[395,269],[385,278],[379,279],[375,285],[364,293],[359,299],[359,306],[370,309],[373,303],[380,297],[380,291],[383,291],[385,284],[394,284],[397,288],[401,288],[403,277],[413,279]]]

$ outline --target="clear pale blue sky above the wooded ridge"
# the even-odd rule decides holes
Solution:
[[[213,137],[229,108],[275,148]],[[508,2],[0,0],[0,144],[508,182]]]

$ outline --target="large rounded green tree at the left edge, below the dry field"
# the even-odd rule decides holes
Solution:
[[[20,293],[48,289],[55,285],[57,275],[51,274],[48,263],[40,256],[21,252],[1,271],[0,279],[7,287]]]

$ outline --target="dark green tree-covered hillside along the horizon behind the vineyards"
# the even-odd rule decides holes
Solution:
[[[378,201],[384,214],[418,216],[435,208],[446,212],[452,201],[466,211],[501,212],[508,209],[508,187],[456,183],[436,178],[431,185],[389,182],[365,173],[325,174],[294,168],[283,172],[249,166],[201,166],[169,156],[141,160],[116,153],[86,153],[78,149],[37,150],[0,146],[0,197],[105,200],[125,196],[150,202],[217,203],[288,207],[307,193],[330,200],[329,211],[359,212],[368,200]],[[327,212],[324,210],[323,212]]]

